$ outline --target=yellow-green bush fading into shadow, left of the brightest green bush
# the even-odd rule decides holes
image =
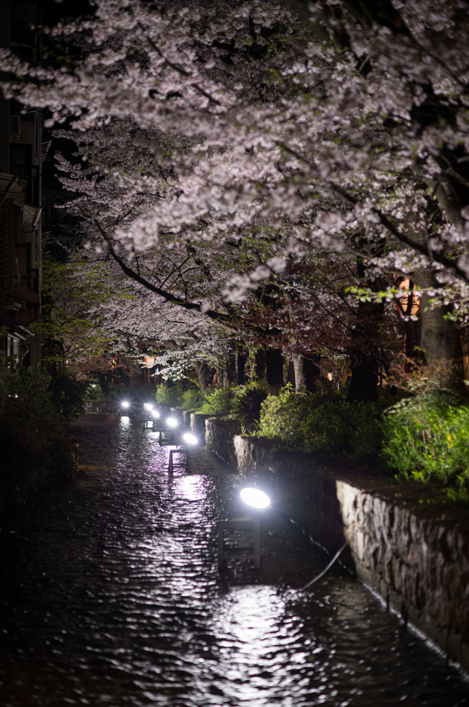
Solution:
[[[338,392],[311,395],[287,386],[263,402],[259,431],[289,449],[365,460],[379,452],[380,415],[387,404],[349,403]]]

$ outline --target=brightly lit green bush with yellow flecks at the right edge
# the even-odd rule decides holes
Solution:
[[[469,407],[450,392],[401,400],[384,416],[381,459],[405,479],[469,479]]]

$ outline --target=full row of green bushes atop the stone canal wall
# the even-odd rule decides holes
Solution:
[[[469,501],[469,405],[454,392],[392,396],[384,390],[376,402],[348,402],[345,388],[296,392],[263,381],[202,392],[162,385],[156,397],[237,420],[242,433],[270,440],[274,452],[307,453],[403,483],[438,484],[446,498]]]

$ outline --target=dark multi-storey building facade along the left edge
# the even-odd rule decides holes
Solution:
[[[40,8],[0,0],[0,46],[25,61],[40,60]],[[3,79],[8,76],[3,75]],[[0,351],[35,366],[41,341],[30,326],[40,317],[42,273],[42,112],[23,112],[0,94]]]

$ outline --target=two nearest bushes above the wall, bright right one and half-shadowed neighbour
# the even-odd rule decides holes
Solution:
[[[286,449],[379,460],[402,479],[463,489],[469,480],[468,404],[449,391],[390,402],[386,396],[349,403],[338,393],[295,395],[287,386],[263,402],[259,433]]]

